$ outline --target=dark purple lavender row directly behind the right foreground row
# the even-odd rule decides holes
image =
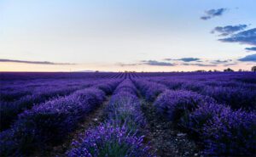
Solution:
[[[256,84],[232,81],[232,77],[205,79],[187,76],[174,79],[159,77],[149,81],[159,82],[172,90],[189,90],[210,96],[219,104],[230,105],[232,109],[256,109]]]

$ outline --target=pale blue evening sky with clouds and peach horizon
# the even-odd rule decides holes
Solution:
[[[255,0],[0,0],[0,71],[250,70]]]

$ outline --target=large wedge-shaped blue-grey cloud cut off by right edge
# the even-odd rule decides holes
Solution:
[[[256,45],[256,28],[241,31],[227,38],[218,39],[221,42],[239,42],[243,44]]]

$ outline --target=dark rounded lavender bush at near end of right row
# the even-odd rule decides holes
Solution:
[[[256,115],[242,110],[224,110],[203,128],[206,154],[251,156],[256,150]]]

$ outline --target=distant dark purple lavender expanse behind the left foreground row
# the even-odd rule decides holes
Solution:
[[[26,109],[31,109],[36,104],[44,103],[49,99],[73,93],[84,87],[91,87],[100,80],[112,78],[124,79],[130,77],[128,73],[93,73],[84,75],[71,73],[77,79],[67,79],[68,73],[7,73],[2,74],[0,87],[0,131],[14,123],[17,116]],[[26,80],[17,80],[14,76],[28,76]],[[4,76],[14,77],[15,80],[4,80]],[[42,76],[42,77],[39,77]],[[50,76],[48,79],[45,76]],[[86,78],[81,79],[86,76]],[[21,77],[22,78],[22,77]],[[32,79],[34,78],[34,79]],[[92,79],[93,78],[93,79]],[[29,80],[27,80],[29,79]],[[95,81],[96,80],[96,81]]]

